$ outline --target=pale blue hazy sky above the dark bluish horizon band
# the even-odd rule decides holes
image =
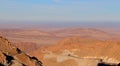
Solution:
[[[0,20],[120,21],[120,0],[0,0]]]

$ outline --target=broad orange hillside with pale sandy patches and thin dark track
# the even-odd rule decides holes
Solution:
[[[119,48],[118,41],[69,37],[58,45],[40,48],[32,55],[45,66],[119,66]]]

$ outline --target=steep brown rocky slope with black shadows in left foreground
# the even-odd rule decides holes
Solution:
[[[0,36],[0,66],[42,66],[36,57],[30,57]]]

